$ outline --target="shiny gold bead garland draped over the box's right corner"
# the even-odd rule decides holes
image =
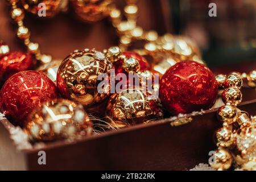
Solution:
[[[252,86],[255,80],[251,73],[254,72],[250,72],[249,76],[242,74],[252,82]],[[230,169],[233,163],[244,170],[256,169],[256,120],[236,107],[242,101],[242,75],[233,72],[228,76],[216,76],[220,89],[225,89],[222,92],[225,105],[217,111],[223,127],[216,132],[218,149],[214,155],[215,162],[210,163],[217,170]]]

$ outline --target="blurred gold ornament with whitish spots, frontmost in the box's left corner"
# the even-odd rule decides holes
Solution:
[[[24,130],[32,140],[49,141],[90,135],[92,122],[82,105],[57,99],[33,110],[26,119]]]

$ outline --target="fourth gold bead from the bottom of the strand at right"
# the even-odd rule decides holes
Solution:
[[[242,102],[242,92],[237,87],[229,87],[222,93],[222,101],[225,104],[237,106]]]

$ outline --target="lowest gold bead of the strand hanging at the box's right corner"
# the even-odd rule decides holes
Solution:
[[[210,166],[218,171],[228,170],[232,166],[233,158],[230,152],[222,147],[214,154],[215,161]]]

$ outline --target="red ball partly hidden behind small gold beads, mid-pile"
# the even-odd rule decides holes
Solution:
[[[136,52],[131,52],[131,51],[125,51],[123,52],[123,55],[126,58],[134,58],[137,59],[139,62],[139,66],[141,67],[141,69],[139,69],[139,71],[146,71],[146,70],[151,70],[150,65],[148,64],[146,58],[144,58],[143,56],[139,55]],[[117,60],[113,63],[113,67],[115,69],[115,75],[117,75],[118,73],[126,73],[123,68],[123,60]],[[127,73],[126,73],[127,74]]]

